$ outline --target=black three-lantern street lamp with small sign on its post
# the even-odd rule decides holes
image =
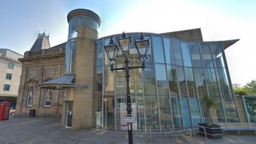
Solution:
[[[108,45],[105,45],[105,51],[107,52],[108,55],[108,63],[110,64],[110,70],[125,70],[125,77],[126,77],[126,101],[127,101],[127,106],[126,106],[126,111],[127,111],[127,117],[124,117],[130,122],[128,123],[128,137],[129,137],[129,144],[133,143],[133,138],[132,138],[132,121],[135,121],[135,117],[132,117],[132,105],[131,105],[131,94],[130,94],[130,69],[134,68],[145,68],[145,61],[147,60],[147,52],[149,49],[149,40],[145,39],[142,35],[140,34],[140,39],[135,41],[135,46],[139,54],[139,59],[141,60],[141,66],[134,66],[130,67],[129,66],[129,55],[130,55],[130,48],[131,48],[131,37],[126,36],[123,32],[123,35],[121,38],[118,38],[118,44],[120,49],[122,50],[122,53],[125,57],[124,63],[125,67],[122,68],[114,68],[114,63],[116,60],[117,53],[119,51],[117,45],[113,42],[113,39],[111,37],[110,42]],[[131,118],[131,119],[130,119]]]

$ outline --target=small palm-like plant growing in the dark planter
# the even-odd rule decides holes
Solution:
[[[211,109],[215,109],[217,108],[218,104],[217,104],[217,101],[213,98],[209,98],[207,97],[207,95],[205,95],[202,99],[201,99],[201,102],[203,103],[203,105],[205,106],[206,108],[206,115],[207,115],[207,123],[208,125],[211,125],[211,114],[210,114],[210,111]]]

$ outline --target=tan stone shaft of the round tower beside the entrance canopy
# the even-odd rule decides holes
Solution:
[[[98,32],[87,26],[78,27],[76,46],[75,83],[90,85],[75,87],[72,129],[92,127],[94,41]]]

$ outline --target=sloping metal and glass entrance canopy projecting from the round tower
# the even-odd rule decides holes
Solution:
[[[55,90],[60,90],[60,89],[65,89],[70,87],[85,87],[85,88],[90,87],[90,85],[78,84],[74,82],[75,82],[75,75],[64,75],[62,77],[57,77],[49,81],[40,83],[38,85],[39,87],[44,89],[55,89]]]

